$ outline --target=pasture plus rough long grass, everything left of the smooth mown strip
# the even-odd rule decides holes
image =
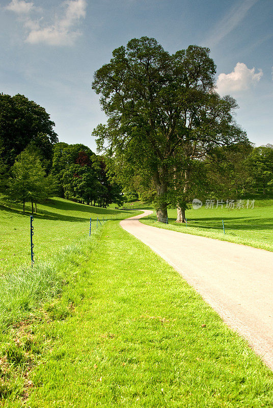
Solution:
[[[0,398],[11,395],[14,400],[14,396],[24,394],[23,377],[39,360],[37,353],[42,354],[41,350],[46,348],[44,339],[33,340],[31,332],[23,332],[22,336],[21,327],[28,327],[29,322],[39,327],[44,319],[48,322],[70,315],[83,293],[66,297],[63,292],[67,293],[67,286],[74,285],[81,262],[89,259],[90,242],[100,234],[103,218],[122,219],[129,213],[60,198],[49,200],[34,216],[34,238],[38,241],[35,248],[39,256],[32,268],[29,215],[23,215],[21,208],[14,205],[3,204],[1,210],[2,256],[5,258],[1,259],[0,274]],[[93,220],[91,237],[90,216]],[[97,217],[101,222],[98,228]],[[9,256],[11,248],[15,258]],[[83,248],[88,248],[86,258]],[[21,249],[24,256],[19,257]],[[58,299],[61,301],[56,303]]]

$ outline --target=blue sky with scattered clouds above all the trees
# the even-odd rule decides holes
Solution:
[[[0,92],[23,94],[56,123],[60,141],[96,151],[106,122],[94,72],[131,38],[155,38],[169,53],[209,47],[221,95],[257,146],[273,144],[272,0],[0,0]]]

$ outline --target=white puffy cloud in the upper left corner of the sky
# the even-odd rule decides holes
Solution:
[[[86,6],[86,0],[65,0],[61,4],[62,12],[60,15],[54,16],[52,23],[46,23],[43,17],[38,20],[30,18],[28,14],[35,8],[33,3],[12,0],[6,8],[20,14],[20,20],[23,21],[24,28],[28,30],[26,42],[30,44],[73,45],[76,38],[81,35],[76,26],[81,18],[85,18]]]

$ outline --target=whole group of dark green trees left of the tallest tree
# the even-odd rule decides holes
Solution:
[[[59,195],[107,207],[122,203],[121,187],[102,156],[83,144],[59,142],[45,109],[24,95],[0,94],[0,189],[23,205]]]

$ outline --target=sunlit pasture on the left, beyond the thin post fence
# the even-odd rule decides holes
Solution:
[[[33,222],[36,262],[45,262],[54,256],[59,247],[86,237],[90,217],[92,230],[96,228],[97,217],[102,223],[103,217],[122,219],[124,212],[116,211],[113,207],[91,207],[58,197],[38,205]],[[10,203],[8,206],[4,202],[0,205],[0,275],[12,272],[18,266],[30,265],[30,205],[26,205],[26,210],[26,215],[23,215],[20,205]]]

